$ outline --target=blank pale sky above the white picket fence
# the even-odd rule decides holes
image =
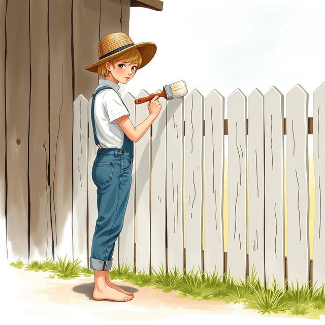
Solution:
[[[212,89],[226,99],[297,83],[312,93],[325,82],[325,1],[165,0],[163,11],[131,8],[129,36],[153,42],[157,52],[121,86],[137,95],[184,80],[188,93]],[[225,112],[226,117],[226,112]]]

